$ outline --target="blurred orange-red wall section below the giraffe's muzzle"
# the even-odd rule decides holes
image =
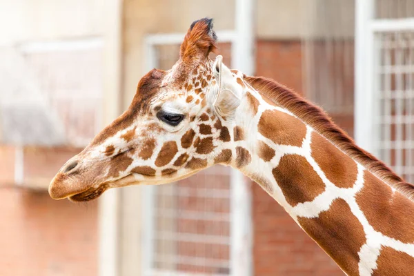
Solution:
[[[0,189],[0,275],[97,275],[97,202]]]

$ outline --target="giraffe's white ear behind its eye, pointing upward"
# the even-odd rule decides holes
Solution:
[[[213,97],[213,106],[219,115],[231,117],[236,108],[240,105],[242,88],[238,85],[230,69],[223,64],[223,57],[217,56],[213,64],[217,90]]]

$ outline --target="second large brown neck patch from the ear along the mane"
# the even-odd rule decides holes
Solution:
[[[355,161],[316,132],[311,136],[311,155],[335,186],[351,188],[355,184],[358,170]]]

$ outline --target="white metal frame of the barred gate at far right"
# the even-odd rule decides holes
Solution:
[[[375,152],[375,118],[379,114],[375,105],[378,79],[375,79],[378,33],[414,31],[414,19],[375,19],[375,0],[356,0],[355,6],[355,140],[359,146]]]

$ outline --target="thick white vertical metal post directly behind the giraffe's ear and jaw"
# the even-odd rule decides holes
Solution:
[[[233,68],[246,75],[255,72],[253,0],[235,1],[236,39],[231,51]],[[253,230],[251,222],[251,195],[242,172],[232,170],[230,175],[230,273],[237,276],[253,275]]]

